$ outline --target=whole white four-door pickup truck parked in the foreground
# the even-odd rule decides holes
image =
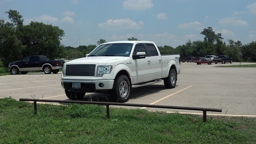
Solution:
[[[72,100],[85,93],[108,93],[112,101],[124,103],[133,87],[164,80],[167,89],[174,88],[179,73],[179,54],[160,55],[152,41],[113,41],[64,63],[61,85]]]

